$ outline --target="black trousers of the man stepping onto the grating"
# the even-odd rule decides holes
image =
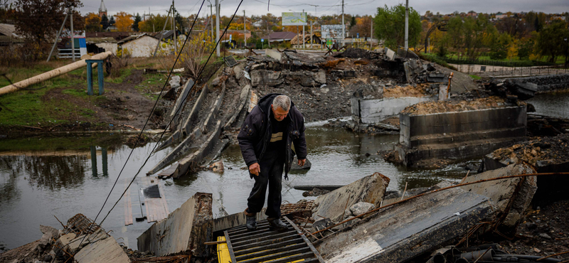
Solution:
[[[248,212],[260,212],[265,204],[265,193],[267,192],[267,183],[269,195],[267,200],[267,211],[265,215],[268,218],[280,218],[280,203],[282,189],[282,171],[285,168],[285,149],[278,151],[266,151],[265,155],[259,162],[261,172],[259,176],[252,175],[255,178],[255,185],[247,199]]]

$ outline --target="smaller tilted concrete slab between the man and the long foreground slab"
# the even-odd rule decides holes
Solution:
[[[389,181],[389,178],[381,173],[373,173],[347,186],[320,195],[314,201],[312,218],[330,218],[335,222],[340,222],[346,204],[350,207],[363,201],[379,206]]]

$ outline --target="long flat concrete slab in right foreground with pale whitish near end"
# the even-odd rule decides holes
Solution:
[[[314,247],[329,263],[407,262],[492,220],[492,209],[489,198],[452,188],[368,215]]]

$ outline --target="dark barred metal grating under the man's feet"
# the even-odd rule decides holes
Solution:
[[[317,249],[299,227],[284,217],[288,229],[282,232],[272,230],[267,221],[257,223],[257,230],[249,231],[245,225],[223,231],[232,263],[324,263]]]

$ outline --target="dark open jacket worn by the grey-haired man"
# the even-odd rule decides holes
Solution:
[[[249,167],[253,163],[258,163],[265,151],[267,150],[267,145],[271,139],[271,104],[272,100],[277,97],[278,93],[272,93],[262,97],[257,106],[255,106],[250,114],[248,115],[245,122],[243,122],[243,127],[241,127],[241,132],[237,136],[239,141],[239,146],[241,147],[241,154],[243,154],[243,159]],[[292,143],[294,143],[294,149],[298,159],[307,158],[307,141],[304,139],[304,117],[299,112],[297,107],[294,107],[294,103],[290,102],[289,114],[287,114],[287,119],[289,124],[287,126],[287,131],[283,133],[283,140],[286,142],[285,151],[285,178],[288,178],[288,172],[290,171],[290,166],[292,159],[294,158],[294,151],[290,148]],[[282,120],[285,122],[286,119]]]

